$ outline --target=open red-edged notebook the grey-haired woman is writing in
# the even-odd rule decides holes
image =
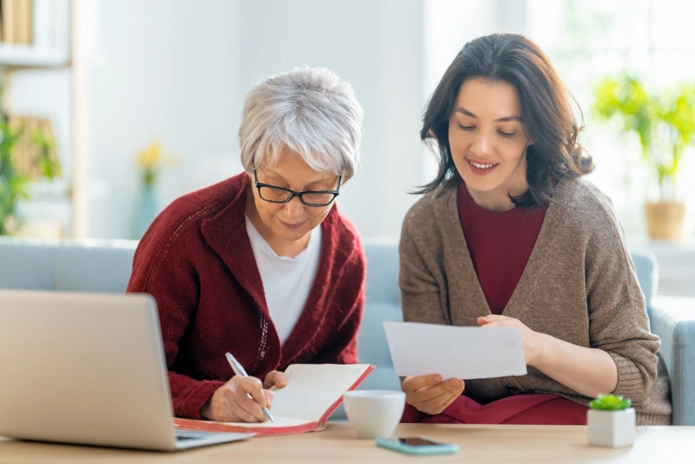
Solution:
[[[368,364],[293,364],[285,371],[287,386],[272,387],[275,423],[211,422],[174,418],[174,426],[210,432],[251,432],[284,435],[318,431],[343,402],[343,393],[356,389],[374,370]]]

